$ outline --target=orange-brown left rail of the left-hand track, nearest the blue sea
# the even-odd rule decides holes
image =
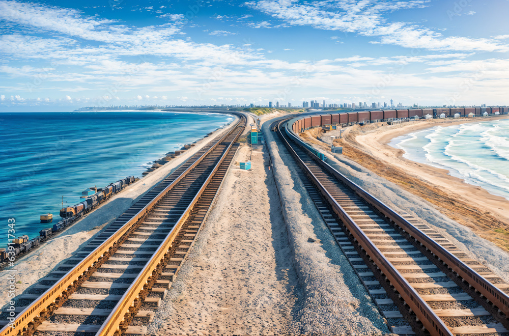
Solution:
[[[232,113],[235,114],[235,113]],[[56,300],[62,297],[74,284],[77,283],[78,279],[84,275],[96,262],[104,256],[110,248],[121,238],[135,223],[138,219],[142,218],[169,190],[171,190],[180,180],[182,180],[190,171],[194,169],[210,152],[212,152],[225,138],[233,133],[238,125],[244,120],[245,117],[241,114],[235,114],[240,120],[236,126],[232,128],[227,134],[223,135],[214,145],[212,145],[204,154],[202,154],[196,161],[191,164],[181,175],[179,175],[171,184],[166,186],[161,192],[159,192],[154,199],[140,209],[130,220],[128,220],[117,232],[112,234],[102,244],[96,247],[91,253],[85,257],[80,263],[74,266],[67,274],[62,276],[58,282],[46,290],[41,296],[34,300],[28,305],[21,313],[19,313],[13,322],[7,324],[0,329],[0,336],[11,336],[21,335],[23,331],[27,329],[30,323],[33,323],[39,318],[40,314],[46,312],[51,304],[55,303]]]

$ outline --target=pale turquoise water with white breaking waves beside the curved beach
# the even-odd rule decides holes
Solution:
[[[509,120],[433,127],[394,138],[405,158],[442,169],[509,200]]]

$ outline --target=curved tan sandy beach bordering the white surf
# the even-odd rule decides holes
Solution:
[[[434,119],[393,126],[386,123],[355,125],[346,128],[343,138],[335,139],[334,144],[343,146],[344,156],[425,199],[478,236],[509,250],[509,236],[505,233],[505,230],[509,230],[509,201],[450,176],[447,170],[405,159],[402,156],[403,150],[388,145],[395,137],[429,127],[507,118],[500,116],[461,121]],[[319,135],[317,132],[316,129],[308,131],[303,137],[327,149],[325,144],[313,138]],[[338,135],[338,131],[327,132],[325,135]],[[497,229],[498,232],[495,231]]]

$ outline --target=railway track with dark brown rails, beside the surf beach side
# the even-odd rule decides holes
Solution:
[[[509,285],[335,171],[306,148],[288,120],[271,129],[300,166],[306,190],[394,333],[509,333]]]

